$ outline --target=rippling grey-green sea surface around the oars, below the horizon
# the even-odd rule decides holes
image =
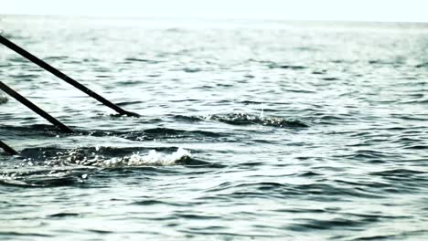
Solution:
[[[428,26],[2,16],[1,240],[427,240]]]

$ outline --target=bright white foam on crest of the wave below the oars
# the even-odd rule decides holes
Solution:
[[[116,167],[116,166],[147,166],[147,165],[175,165],[177,162],[183,161],[190,157],[190,152],[186,149],[179,147],[177,152],[171,154],[163,154],[151,150],[145,155],[140,153],[134,153],[129,157],[123,157],[122,159],[110,159],[102,162],[104,167]]]

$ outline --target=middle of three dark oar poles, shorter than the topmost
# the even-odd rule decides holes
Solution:
[[[29,108],[30,110],[35,111],[39,116],[43,117],[44,119],[46,119],[50,123],[52,123],[55,126],[57,126],[61,131],[68,132],[68,133],[72,133],[73,132],[68,126],[64,125],[63,123],[61,123],[57,119],[53,118],[45,110],[41,110],[39,107],[37,107],[37,105],[33,104],[30,100],[27,100],[25,97],[23,97],[22,95],[20,95],[14,89],[11,89],[7,85],[5,85],[5,83],[3,83],[2,81],[0,81],[0,89],[2,89],[3,91],[5,91],[6,94],[8,94],[11,97],[15,98],[16,100],[18,100],[19,102],[21,102],[25,106],[27,106],[27,108]]]

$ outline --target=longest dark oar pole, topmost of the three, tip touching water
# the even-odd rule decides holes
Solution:
[[[71,79],[69,76],[67,76],[66,74],[62,73],[57,68],[51,67],[45,61],[43,61],[40,58],[37,58],[34,55],[28,53],[25,49],[23,49],[21,47],[18,47],[16,44],[12,43],[10,40],[8,40],[7,38],[5,38],[5,37],[3,37],[1,35],[0,35],[0,43],[2,43],[3,45],[5,45],[5,47],[9,47],[10,49],[14,50],[16,53],[18,53],[22,57],[27,58],[31,62],[37,64],[37,66],[39,66],[41,68],[44,68],[45,70],[49,71],[53,75],[57,76],[59,79],[62,79],[64,81],[66,81],[67,83],[69,83],[70,85],[74,86],[75,88],[80,89],[81,91],[83,91],[87,95],[91,96],[95,100],[98,100],[98,101],[102,102],[103,105],[105,105],[107,107],[110,107],[112,110],[115,110],[119,114],[121,114],[121,115],[127,115],[127,116],[134,116],[134,117],[140,116],[137,113],[134,113],[134,112],[131,112],[131,111],[127,111],[127,110],[123,110],[119,106],[113,104],[111,101],[104,99],[101,95],[95,93],[91,89],[86,88],[85,86],[83,86],[82,84],[80,84],[78,81],[76,81],[74,79]]]

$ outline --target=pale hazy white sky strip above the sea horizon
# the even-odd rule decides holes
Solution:
[[[0,0],[0,14],[428,22],[428,0]]]

